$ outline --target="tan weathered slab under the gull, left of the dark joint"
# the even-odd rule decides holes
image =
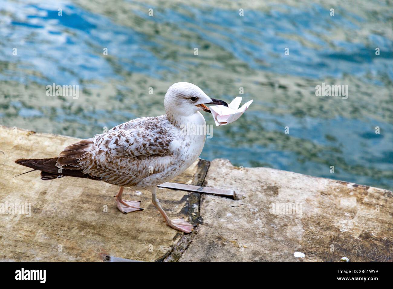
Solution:
[[[126,188],[125,199],[142,201],[145,210],[125,215],[113,198],[118,188],[104,182],[43,181],[38,172],[13,178],[29,170],[13,160],[53,157],[76,141],[0,127],[0,206],[31,203],[31,217],[0,214],[0,261],[163,260],[184,234],[165,225],[150,192]],[[193,184],[199,168],[197,161],[173,181]],[[158,197],[170,217],[188,215],[187,192],[158,189]]]

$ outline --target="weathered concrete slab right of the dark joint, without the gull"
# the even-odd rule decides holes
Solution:
[[[269,168],[210,164],[198,234],[180,261],[391,261],[392,192]],[[274,213],[271,204],[294,205]],[[301,205],[301,208],[300,208]],[[305,254],[294,257],[295,252]]]

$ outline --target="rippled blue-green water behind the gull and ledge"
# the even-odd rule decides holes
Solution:
[[[253,104],[202,158],[393,189],[392,27],[388,1],[2,1],[0,123],[88,138],[163,114],[178,81],[227,101],[243,87]],[[316,96],[322,83],[348,99]]]

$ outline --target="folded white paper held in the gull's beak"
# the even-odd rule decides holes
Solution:
[[[244,103],[244,105],[242,105],[242,107],[239,109],[241,101],[242,98],[238,96],[231,101],[228,107],[225,105],[213,105],[209,107],[217,127],[220,125],[232,123],[233,121],[240,118],[252,103],[252,100],[250,100]]]

